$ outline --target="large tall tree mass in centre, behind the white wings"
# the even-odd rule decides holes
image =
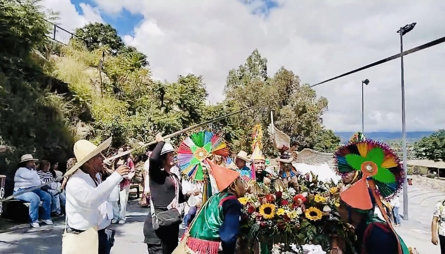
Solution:
[[[335,142],[338,139],[335,135],[332,136],[332,131],[326,132],[322,125],[321,115],[328,106],[326,98],[318,98],[313,89],[300,84],[299,77],[283,67],[273,77],[268,77],[267,59],[262,58],[258,50],[252,52],[246,64],[229,72],[225,93],[225,103],[232,105],[231,111],[254,107],[230,119],[237,129],[235,150],[251,150],[252,126],[260,123],[265,132],[264,153],[267,156],[277,155],[266,133],[271,111],[277,128],[287,133],[298,149],[332,149],[333,145],[326,142]],[[320,133],[328,141],[321,141]],[[316,146],[317,142],[322,143]]]

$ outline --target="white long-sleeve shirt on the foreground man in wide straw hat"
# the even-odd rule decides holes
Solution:
[[[113,188],[122,181],[119,173],[112,173],[105,181],[96,183],[82,170],[77,170],[66,183],[66,218],[68,226],[77,230],[98,230],[109,226],[113,208],[108,201]]]

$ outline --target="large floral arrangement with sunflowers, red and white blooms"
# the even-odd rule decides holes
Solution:
[[[273,180],[272,180],[273,181]],[[348,223],[342,222],[336,213],[339,193],[336,185],[318,181],[315,175],[299,176],[297,192],[293,188],[270,192],[264,196],[247,194],[239,198],[243,204],[242,240],[252,247],[255,242],[267,243],[271,249],[280,244],[285,251],[296,246],[315,244],[330,250],[332,237],[355,239]],[[347,241],[352,247],[352,242]],[[294,249],[294,250],[292,250]]]

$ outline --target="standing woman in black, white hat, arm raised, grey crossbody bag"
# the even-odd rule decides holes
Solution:
[[[144,223],[144,242],[150,254],[171,254],[178,246],[179,225],[182,219],[179,204],[186,202],[190,195],[200,191],[182,193],[179,177],[174,167],[174,149],[166,143],[161,133],[156,135],[158,145],[150,157],[150,213]],[[158,219],[156,219],[158,218]]]

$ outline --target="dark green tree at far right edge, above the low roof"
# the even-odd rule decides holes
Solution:
[[[422,159],[445,160],[445,130],[441,129],[414,144],[416,155]]]

